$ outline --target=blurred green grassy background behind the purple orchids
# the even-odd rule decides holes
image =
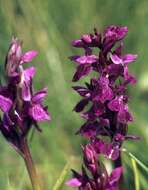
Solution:
[[[68,56],[76,53],[70,42],[94,27],[102,31],[110,24],[129,28],[125,51],[139,55],[130,70],[138,83],[129,89],[135,122],[129,131],[141,136],[139,142],[124,146],[148,165],[148,1],[147,0],[0,0],[0,78],[3,81],[3,64],[12,36],[23,40],[24,51],[39,51],[34,65],[34,79],[38,90],[48,86],[46,103],[52,115],[50,124],[43,123],[41,134],[31,142],[33,159],[37,165],[43,189],[52,189],[69,161],[70,168],[81,162],[80,143],[75,131],[83,122],[72,112],[80,99],[71,86],[75,65]],[[134,176],[129,157],[123,155],[127,190],[134,190]],[[148,189],[148,176],[140,168],[140,189]],[[30,190],[24,163],[0,136],[0,190]],[[70,189],[65,185],[63,190]]]

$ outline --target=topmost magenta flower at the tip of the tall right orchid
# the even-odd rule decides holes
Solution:
[[[105,30],[105,38],[113,38],[115,40],[122,40],[125,35],[128,32],[128,28],[126,26],[124,27],[119,27],[119,26],[114,26],[111,25],[109,27],[107,27],[107,29]]]

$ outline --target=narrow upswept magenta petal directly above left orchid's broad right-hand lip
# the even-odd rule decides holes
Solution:
[[[41,103],[46,95],[47,95],[47,88],[43,88],[33,96],[32,101],[34,103]]]

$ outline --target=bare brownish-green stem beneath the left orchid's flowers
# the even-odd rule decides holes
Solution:
[[[23,159],[24,159],[24,162],[25,162],[25,165],[26,165],[26,168],[31,180],[32,188],[33,190],[41,190],[36,169],[35,169],[26,139],[23,140],[21,144],[21,148],[23,152]]]

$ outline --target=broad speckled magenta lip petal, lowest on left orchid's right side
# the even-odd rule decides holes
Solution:
[[[50,120],[49,114],[40,104],[33,105],[29,110],[29,114],[35,121]]]

